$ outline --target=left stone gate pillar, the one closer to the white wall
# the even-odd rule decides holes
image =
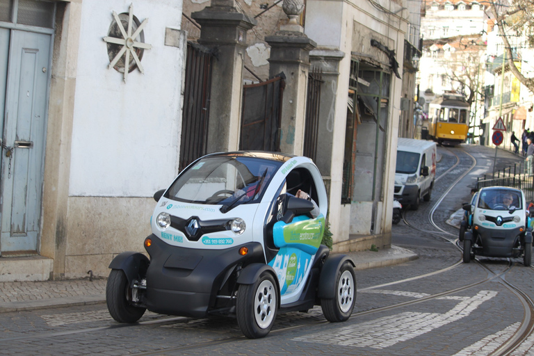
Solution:
[[[257,23],[238,13],[234,0],[211,0],[191,15],[202,26],[198,42],[214,49],[207,152],[234,151],[239,145],[243,62],[247,31]]]

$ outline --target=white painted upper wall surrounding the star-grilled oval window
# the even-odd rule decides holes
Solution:
[[[177,174],[183,49],[165,46],[165,27],[179,28],[181,1],[133,2],[152,44],[145,74],[108,69],[113,15],[131,1],[83,1],[70,165],[71,196],[149,197]]]

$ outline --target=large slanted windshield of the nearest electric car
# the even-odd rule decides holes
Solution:
[[[183,172],[165,197],[180,202],[232,206],[259,202],[282,164],[250,157],[206,157]]]

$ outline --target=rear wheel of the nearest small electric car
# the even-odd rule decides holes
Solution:
[[[321,309],[327,321],[339,323],[346,321],[353,314],[356,302],[356,275],[349,261],[343,262],[336,273],[336,296],[321,299]]]

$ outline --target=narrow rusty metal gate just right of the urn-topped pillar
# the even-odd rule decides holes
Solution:
[[[308,74],[306,118],[304,131],[304,155],[316,160],[317,137],[319,133],[319,109],[321,108],[321,84],[323,71],[314,68]]]

